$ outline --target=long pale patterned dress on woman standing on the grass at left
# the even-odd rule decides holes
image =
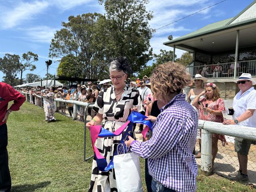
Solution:
[[[54,118],[54,111],[55,111],[55,105],[54,105],[54,93],[49,92],[44,97],[44,109],[45,109],[45,120],[51,121],[55,120]]]

